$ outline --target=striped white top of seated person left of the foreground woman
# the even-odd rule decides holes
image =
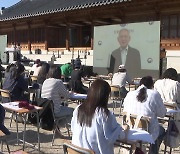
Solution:
[[[60,79],[49,78],[43,82],[41,97],[53,101],[55,115],[58,115],[61,111],[60,104],[62,99],[69,98],[69,95],[69,92],[66,90],[66,87]]]

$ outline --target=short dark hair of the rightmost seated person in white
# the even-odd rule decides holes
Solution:
[[[168,68],[162,76],[163,79],[172,79],[177,81],[178,79],[178,74],[177,71],[174,68]]]

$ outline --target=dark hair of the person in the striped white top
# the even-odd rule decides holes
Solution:
[[[47,74],[48,78],[61,79],[61,69],[56,65],[51,65]]]

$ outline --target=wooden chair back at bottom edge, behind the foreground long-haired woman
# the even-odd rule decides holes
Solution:
[[[73,145],[70,141],[63,143],[64,154],[95,154],[92,150]]]

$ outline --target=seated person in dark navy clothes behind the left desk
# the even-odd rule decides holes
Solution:
[[[17,66],[10,68],[9,75],[5,78],[3,89],[8,90],[11,94],[11,101],[28,100],[25,91],[28,90],[28,82],[24,78],[24,65],[17,63]],[[3,102],[9,100],[3,98]]]

